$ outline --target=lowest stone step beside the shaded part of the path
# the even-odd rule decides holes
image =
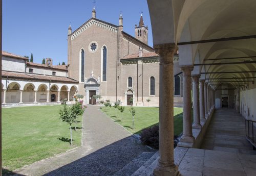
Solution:
[[[155,153],[154,152],[143,152],[137,158],[126,164],[122,169],[116,172],[113,176],[130,176],[140,166],[142,166],[148,159],[150,159]]]

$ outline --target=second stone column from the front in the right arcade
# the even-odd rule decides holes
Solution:
[[[194,143],[191,124],[191,71],[193,66],[181,67],[183,73],[183,135],[181,142]]]

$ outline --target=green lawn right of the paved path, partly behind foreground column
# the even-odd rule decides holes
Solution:
[[[109,107],[101,107],[101,110],[132,134],[139,134],[142,129],[158,124],[159,108],[134,107],[136,110],[134,123],[135,128],[132,129],[132,115],[130,114],[129,111],[130,108],[131,107],[125,107],[123,114],[121,114],[114,107],[112,107],[111,109]],[[174,134],[180,135],[183,129],[183,108],[174,108],[174,115]]]

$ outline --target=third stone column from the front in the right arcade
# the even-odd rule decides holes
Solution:
[[[194,123],[193,129],[201,129],[202,126],[200,124],[200,114],[199,114],[199,77],[193,76],[193,116]]]

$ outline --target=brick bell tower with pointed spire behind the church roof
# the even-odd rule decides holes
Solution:
[[[135,38],[147,44],[147,32],[148,32],[148,27],[147,26],[145,27],[143,16],[141,13],[139,26],[137,27],[137,24],[135,24]]]

